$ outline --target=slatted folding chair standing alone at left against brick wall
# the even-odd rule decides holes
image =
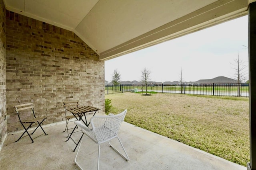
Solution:
[[[45,133],[44,129],[43,129],[42,126],[41,126],[41,124],[43,123],[43,121],[44,121],[47,117],[46,117],[46,116],[44,116],[44,117],[36,117],[35,111],[34,111],[33,103],[15,105],[14,108],[15,108],[16,113],[18,114],[18,117],[19,117],[19,120],[20,120],[20,123],[21,123],[22,127],[25,129],[24,133],[22,133],[22,135],[20,136],[20,138],[19,138],[17,141],[15,141],[15,142],[18,142],[18,141],[22,138],[22,136],[23,136],[25,133],[27,133],[28,136],[30,137],[32,143],[34,143],[32,137],[31,137],[30,135],[33,135],[33,133],[36,131],[36,129],[38,129],[38,127],[41,127],[41,129],[42,129],[42,131],[44,132],[44,134],[45,134],[45,135],[48,135],[48,134]],[[24,111],[24,110],[29,110],[29,109],[32,110],[32,113],[33,113],[33,115],[34,115],[34,118],[33,118],[33,119],[29,119],[29,120],[22,120],[19,111]],[[40,121],[40,120],[42,120],[42,121]],[[39,121],[40,121],[40,122],[39,122]],[[33,124],[33,123],[36,123],[36,122],[38,123],[38,126],[36,127],[36,129],[35,129],[31,134],[29,134],[29,133],[28,133],[28,129],[29,129],[30,127],[32,127],[32,124]],[[29,124],[29,126],[28,126],[27,128],[26,128],[25,125],[24,125],[24,124],[26,124],[26,123]]]

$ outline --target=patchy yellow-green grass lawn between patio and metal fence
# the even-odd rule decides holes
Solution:
[[[106,95],[125,121],[246,166],[250,162],[249,99],[184,94]]]

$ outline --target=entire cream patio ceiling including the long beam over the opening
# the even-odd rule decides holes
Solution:
[[[256,0],[4,0],[6,9],[74,31],[107,60],[246,15]]]

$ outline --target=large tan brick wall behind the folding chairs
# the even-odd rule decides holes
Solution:
[[[14,105],[33,102],[46,123],[64,120],[63,101],[104,111],[104,61],[71,31],[6,10],[7,131],[22,129]]]

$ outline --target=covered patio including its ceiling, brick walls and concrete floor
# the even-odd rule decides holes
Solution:
[[[248,169],[256,170],[255,1],[0,0],[0,168],[76,168],[73,144],[64,142],[60,130],[63,102],[79,100],[104,114],[104,61],[248,15]],[[26,139],[12,143],[23,129],[13,106],[28,102],[47,117],[43,125],[51,133],[34,144]],[[128,123],[123,123],[120,137],[131,160],[119,160],[104,148],[102,155],[110,154],[102,157],[104,169],[244,169]]]

